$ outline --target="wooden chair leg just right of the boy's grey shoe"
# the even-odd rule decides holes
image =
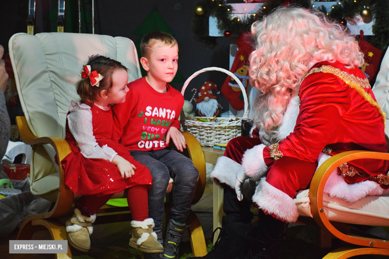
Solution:
[[[191,210],[188,216],[188,224],[191,225],[189,228],[189,236],[191,240],[192,252],[194,257],[203,257],[207,254],[204,233],[200,221],[196,214]]]

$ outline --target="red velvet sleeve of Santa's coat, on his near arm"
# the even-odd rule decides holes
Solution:
[[[283,156],[314,162],[336,134],[342,116],[350,109],[348,86],[328,73],[307,76],[300,86],[300,112],[296,126],[289,136],[279,142]],[[263,157],[269,163],[269,147]],[[267,164],[268,166],[270,165]]]

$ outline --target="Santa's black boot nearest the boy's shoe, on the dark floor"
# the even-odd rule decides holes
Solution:
[[[209,253],[202,257],[203,259],[239,259],[242,255],[246,255],[248,246],[243,238],[244,233],[250,225],[236,222],[225,224],[223,228],[217,228],[213,231],[213,235],[217,230],[220,233],[216,242],[213,244],[213,248]],[[197,259],[199,257],[193,257],[189,259]]]

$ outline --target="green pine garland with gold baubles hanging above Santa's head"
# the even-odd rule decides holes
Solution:
[[[339,0],[341,4],[335,4],[330,12],[320,4],[320,2],[311,2],[311,0],[296,0],[294,6],[300,6],[312,9],[312,4],[319,6],[318,10],[326,13],[332,20],[340,22],[344,17],[354,18],[356,13],[360,13],[364,6],[369,7],[372,15],[375,16],[373,25],[373,36],[367,37],[376,48],[385,51],[389,45],[389,0]],[[266,0],[255,14],[243,18],[233,17],[231,19],[232,6],[225,4],[224,0],[198,0],[197,5],[201,5],[204,13],[197,15],[194,13],[192,30],[197,41],[205,43],[209,48],[216,46],[216,37],[209,36],[209,16],[217,19],[217,28],[219,31],[230,31],[232,35],[237,36],[241,32],[250,31],[251,24],[254,21],[261,20],[263,16],[269,14],[275,8],[284,4],[284,0]],[[229,10],[228,10],[229,9]]]

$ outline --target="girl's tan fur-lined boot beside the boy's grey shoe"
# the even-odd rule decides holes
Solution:
[[[132,236],[130,247],[136,248],[145,253],[164,253],[164,247],[157,241],[157,234],[153,231],[154,220],[152,218],[144,221],[131,221]],[[131,234],[130,233],[130,234]]]

